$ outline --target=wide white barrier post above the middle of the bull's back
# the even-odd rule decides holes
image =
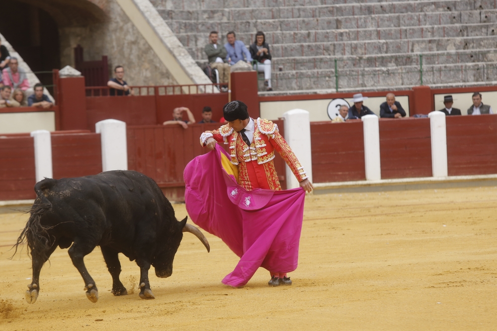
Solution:
[[[126,123],[105,120],[95,124],[102,145],[102,171],[128,170]]]

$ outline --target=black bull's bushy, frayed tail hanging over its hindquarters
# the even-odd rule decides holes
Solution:
[[[29,251],[37,252],[37,254],[40,254],[40,258],[44,259],[44,261],[47,260],[46,252],[52,247],[55,238],[52,238],[48,233],[52,226],[42,225],[41,217],[47,210],[52,208],[52,203],[45,195],[56,183],[57,180],[55,179],[44,179],[35,185],[34,191],[37,197],[29,210],[31,216],[13,246],[15,251],[12,257],[17,253],[18,246],[26,239],[28,254],[30,253]]]

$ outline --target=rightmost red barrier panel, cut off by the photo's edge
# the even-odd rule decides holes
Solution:
[[[497,173],[497,116],[447,116],[449,176]]]

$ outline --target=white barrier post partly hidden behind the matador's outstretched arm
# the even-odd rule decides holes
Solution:
[[[312,183],[312,154],[311,154],[311,122],[309,112],[303,109],[293,109],[283,114],[285,119],[285,140],[292,148]],[[295,189],[299,181],[286,165],[286,187]]]

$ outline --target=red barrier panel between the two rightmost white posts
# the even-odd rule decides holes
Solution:
[[[380,119],[381,178],[431,177],[428,118]]]

